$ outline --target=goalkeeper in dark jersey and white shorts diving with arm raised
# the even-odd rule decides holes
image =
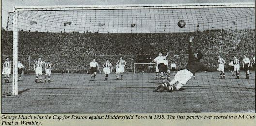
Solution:
[[[192,40],[194,37],[192,36],[189,40],[189,47],[188,47],[188,64],[185,69],[180,70],[176,73],[174,76],[174,79],[168,83],[161,84],[157,86],[154,89],[154,92],[162,92],[164,90],[168,91],[175,91],[181,89],[192,77],[193,75],[198,71],[215,71],[216,69],[211,69],[206,67],[203,63],[200,62],[200,59],[202,59],[203,54],[198,51],[197,53],[192,52]],[[174,84],[177,84],[177,86],[173,86]]]

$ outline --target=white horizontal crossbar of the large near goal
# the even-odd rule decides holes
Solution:
[[[92,10],[92,9],[157,9],[157,8],[231,8],[255,7],[254,2],[237,3],[186,3],[186,4],[124,4],[124,5],[63,5],[63,6],[16,6],[18,11]]]

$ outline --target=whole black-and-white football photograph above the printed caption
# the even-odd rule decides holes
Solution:
[[[254,0],[1,10],[1,113],[256,113]]]

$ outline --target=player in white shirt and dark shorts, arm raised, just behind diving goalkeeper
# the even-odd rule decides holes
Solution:
[[[158,57],[156,57],[153,62],[157,63],[158,66],[158,70],[161,73],[161,79],[162,79],[162,83],[165,83],[165,77],[164,77],[164,73],[167,73],[168,68],[166,67],[165,63],[165,59],[168,57],[169,52],[167,53],[166,56],[162,56],[162,52],[158,53]]]

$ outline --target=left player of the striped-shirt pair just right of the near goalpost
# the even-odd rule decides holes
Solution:
[[[45,62],[42,61],[42,58],[39,57],[38,61],[35,62],[34,64],[34,70],[35,70],[35,82],[38,82],[38,75],[39,75],[39,82],[42,82],[42,71],[43,71],[43,66],[45,65]]]

